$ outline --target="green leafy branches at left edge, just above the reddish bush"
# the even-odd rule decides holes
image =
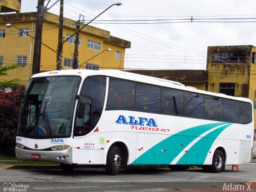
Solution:
[[[12,69],[16,69],[18,68],[18,65],[6,65],[4,67],[0,67],[0,77],[2,76],[8,76],[8,74],[6,73],[8,70],[12,70]],[[4,80],[4,79],[0,79],[0,88],[6,88],[6,87],[16,87],[16,88],[20,88],[21,85],[19,85],[17,82],[20,81],[20,79],[15,78],[12,80]]]

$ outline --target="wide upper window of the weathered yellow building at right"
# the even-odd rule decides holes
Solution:
[[[245,51],[213,52],[212,60],[213,62],[216,62],[216,63],[223,63],[223,62],[245,63],[246,52]]]

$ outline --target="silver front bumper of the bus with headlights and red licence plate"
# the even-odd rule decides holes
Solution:
[[[58,162],[72,164],[72,147],[59,151],[40,151],[15,148],[18,160]]]

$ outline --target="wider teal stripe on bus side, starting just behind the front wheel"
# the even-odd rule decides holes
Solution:
[[[131,164],[170,164],[182,150],[184,150],[190,142],[196,139],[198,136],[202,135],[204,132],[215,128],[217,126],[222,126],[227,123],[212,123],[212,124],[204,124],[192,128],[188,128],[186,130],[182,130],[168,138],[162,140],[146,152],[144,152],[141,156],[136,158],[134,162]],[[190,140],[188,139],[189,137]],[[163,156],[159,155],[159,152],[162,149],[166,149],[165,158],[162,159]],[[156,153],[158,152],[158,153]]]

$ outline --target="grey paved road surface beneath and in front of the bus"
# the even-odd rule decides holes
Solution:
[[[15,167],[14,167],[15,168]],[[256,164],[239,165],[239,171],[226,166],[222,173],[206,173],[202,169],[172,171],[169,169],[125,168],[117,176],[108,176],[104,168],[76,168],[72,172],[63,172],[58,166],[16,167],[18,169],[0,170],[0,191],[11,183],[14,187],[28,185],[26,191],[222,191],[223,187],[240,186],[244,183],[246,191],[256,190]],[[246,182],[254,183],[247,184]],[[15,184],[13,184],[15,183]],[[16,186],[17,185],[17,186]],[[218,186],[212,187],[212,186]],[[242,185],[241,185],[242,186]],[[240,186],[240,188],[241,188]],[[207,187],[207,188],[204,188]],[[19,188],[20,189],[20,188]],[[234,188],[233,188],[234,189]]]

